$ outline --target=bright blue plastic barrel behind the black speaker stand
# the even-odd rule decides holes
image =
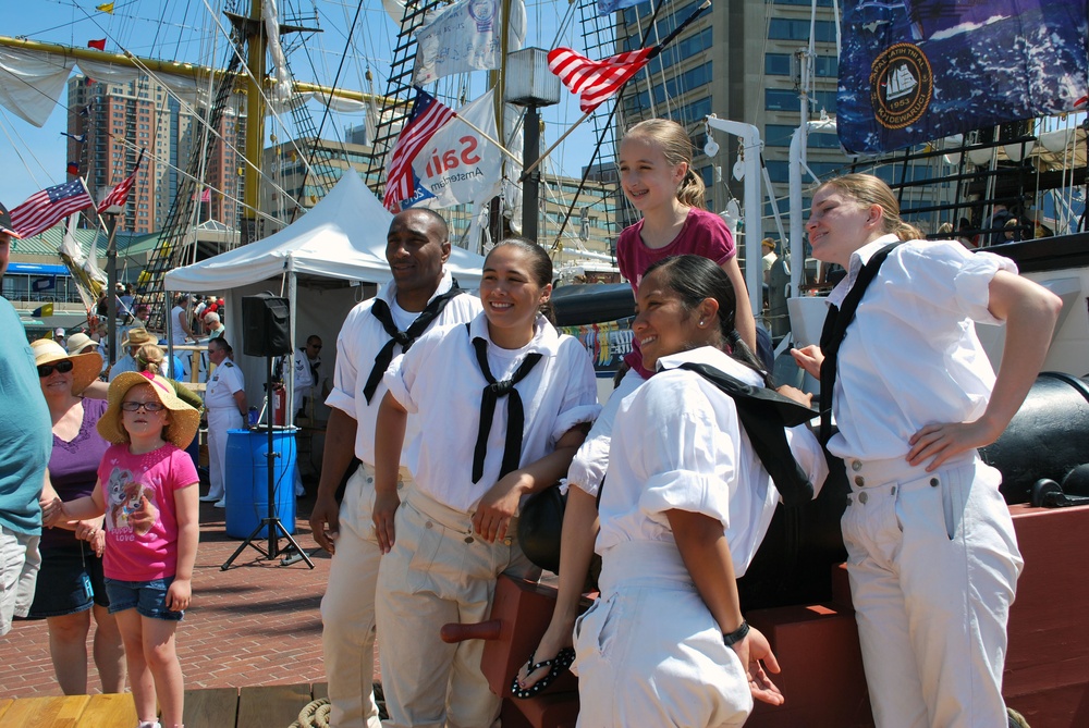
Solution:
[[[268,518],[267,430],[229,430],[227,434],[227,534],[245,539]],[[272,452],[273,515],[287,533],[295,532],[295,428],[274,428]],[[257,534],[268,538],[268,528]]]

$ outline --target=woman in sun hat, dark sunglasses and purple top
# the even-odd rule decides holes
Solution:
[[[76,336],[94,344],[85,334],[74,334],[70,343]],[[97,351],[70,354],[48,338],[34,342],[32,348],[52,419],[49,473],[53,488],[62,501],[89,495],[108,447],[96,430],[107,407],[101,399],[78,395],[98,380],[102,357]],[[102,691],[122,692],[125,687],[121,632],[107,610],[110,603],[102,576],[105,545],[101,518],[59,523],[41,533],[41,570],[28,616],[46,620],[57,681],[68,695],[87,692],[91,614],[98,625],[94,655]]]

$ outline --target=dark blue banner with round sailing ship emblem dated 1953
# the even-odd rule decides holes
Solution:
[[[853,152],[1085,110],[1089,0],[844,0],[836,120]]]

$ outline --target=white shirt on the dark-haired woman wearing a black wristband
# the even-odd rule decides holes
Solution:
[[[685,361],[712,366],[752,386],[755,371],[706,346],[659,360],[659,372],[624,398],[612,433],[609,471],[598,506],[595,551],[626,541],[672,541],[666,511],[702,514],[722,522],[734,572],[744,576],[779,502],[729,395]],[[798,425],[786,431],[798,465],[813,484],[828,476],[817,437]]]

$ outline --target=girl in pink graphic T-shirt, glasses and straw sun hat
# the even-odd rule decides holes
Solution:
[[[199,539],[197,472],[185,447],[200,416],[150,372],[110,384],[98,433],[113,445],[91,495],[63,504],[68,520],[106,514],[106,589],[117,615],[139,728],[181,728],[184,686],[174,631],[193,594]]]

